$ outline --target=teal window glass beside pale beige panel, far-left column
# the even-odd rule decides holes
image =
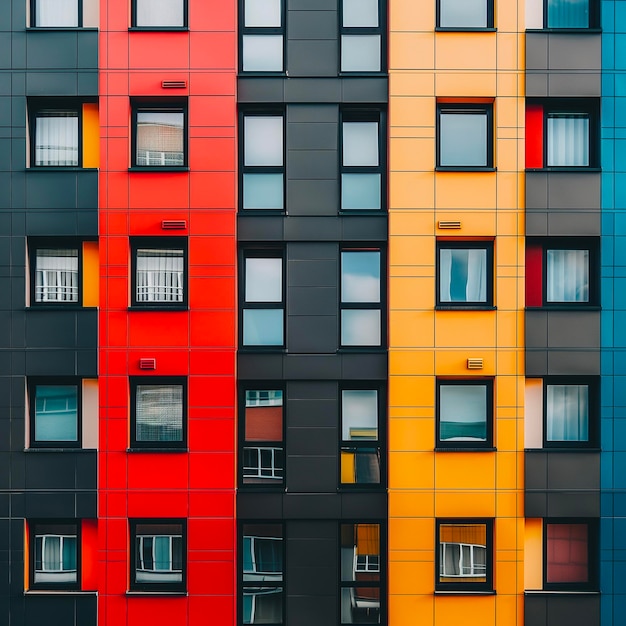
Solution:
[[[77,385],[36,385],[34,442],[78,442]]]

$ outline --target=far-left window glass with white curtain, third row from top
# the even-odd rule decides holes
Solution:
[[[38,248],[35,254],[35,302],[78,302],[78,250]]]

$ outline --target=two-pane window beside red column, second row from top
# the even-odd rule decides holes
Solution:
[[[242,117],[242,209],[282,211],[285,207],[283,125],[282,114]]]

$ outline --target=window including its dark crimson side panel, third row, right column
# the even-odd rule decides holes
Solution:
[[[526,306],[595,306],[598,294],[598,241],[555,237],[526,242]]]

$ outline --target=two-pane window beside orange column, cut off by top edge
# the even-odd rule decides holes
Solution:
[[[380,0],[342,0],[341,71],[380,72],[382,21]]]

